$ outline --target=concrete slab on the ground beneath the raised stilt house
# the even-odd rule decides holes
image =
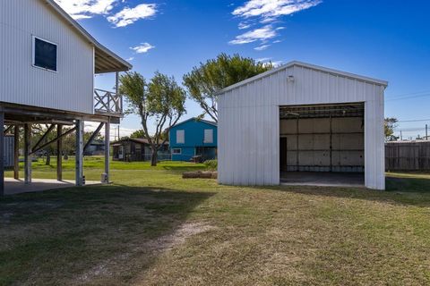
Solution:
[[[99,181],[86,181],[85,186],[101,184]],[[31,184],[26,185],[22,180],[13,178],[4,178],[4,193],[6,195],[15,195],[27,192],[37,192],[49,189],[63,189],[74,187],[73,180],[56,181],[50,179],[32,179]]]

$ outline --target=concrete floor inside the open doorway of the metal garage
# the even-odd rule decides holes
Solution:
[[[281,172],[280,183],[291,186],[364,187],[361,172]]]

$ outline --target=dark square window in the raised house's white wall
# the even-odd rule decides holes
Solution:
[[[49,71],[56,71],[56,44],[34,37],[33,65]]]

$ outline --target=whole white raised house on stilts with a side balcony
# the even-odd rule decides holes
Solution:
[[[132,65],[99,44],[53,0],[1,1],[0,38],[0,125],[6,132],[24,129],[25,182],[31,181],[31,155],[54,142],[61,153],[61,139],[74,131],[76,184],[82,185],[82,156],[92,140],[83,142],[83,122],[99,122],[96,135],[103,125],[119,122],[123,115],[121,96],[95,89],[94,75],[116,72],[117,88],[118,72]],[[36,123],[50,124],[48,131],[58,127],[56,139],[31,142],[31,125]],[[64,126],[72,129],[63,132]],[[108,175],[109,128],[105,130]],[[0,194],[4,194],[4,132],[0,133]],[[62,180],[61,156],[57,164],[57,179]]]

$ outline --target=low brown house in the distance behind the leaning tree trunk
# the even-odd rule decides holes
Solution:
[[[148,139],[121,139],[112,142],[113,147],[113,160],[114,161],[150,161],[152,150]],[[168,149],[168,142],[159,148],[158,151],[159,161],[170,160],[170,150]]]

